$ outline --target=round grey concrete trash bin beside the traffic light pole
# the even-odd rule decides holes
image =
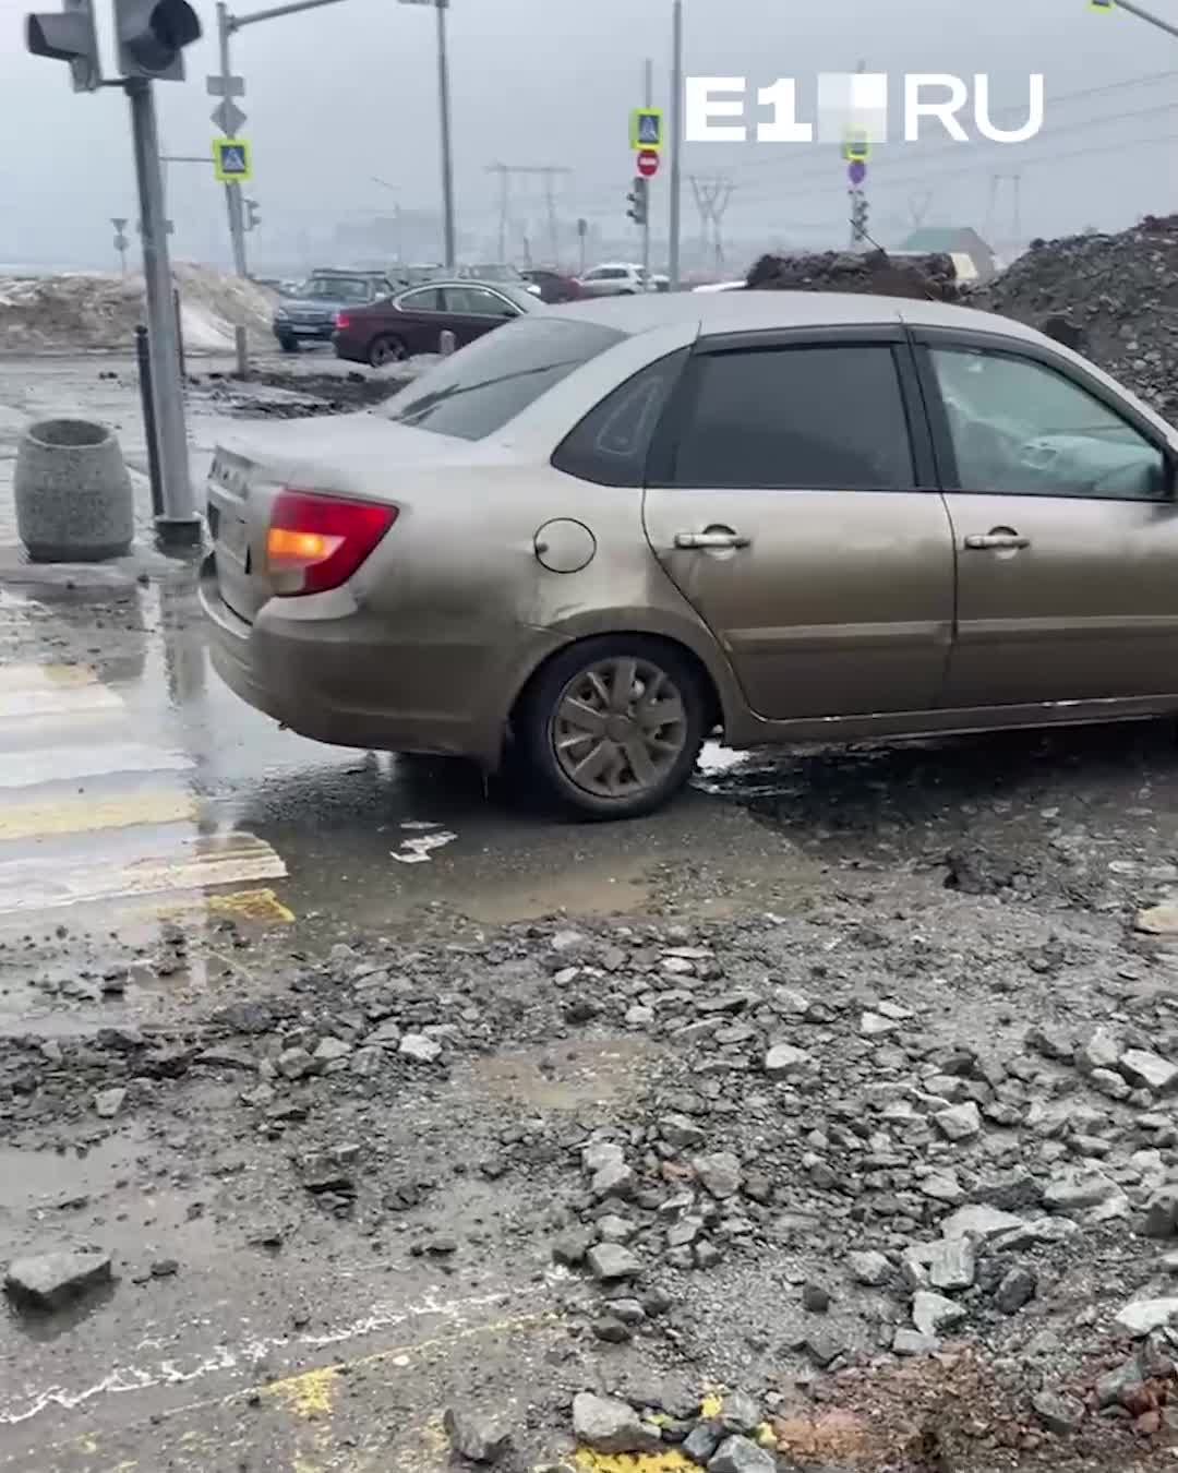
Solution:
[[[41,420],[16,451],[16,533],[34,563],[99,563],[128,552],[134,493],[105,424]]]

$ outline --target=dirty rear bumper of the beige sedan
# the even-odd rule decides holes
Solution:
[[[399,639],[361,611],[290,617],[281,600],[250,625],[221,598],[214,557],[200,572],[200,605],[218,676],[300,736],[498,767],[515,689],[498,650]]]

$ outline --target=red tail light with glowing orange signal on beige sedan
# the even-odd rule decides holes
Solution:
[[[395,521],[396,507],[280,491],[267,532],[267,569],[284,585],[277,592],[290,597],[339,588]]]

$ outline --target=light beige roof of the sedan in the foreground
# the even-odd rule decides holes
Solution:
[[[998,331],[1009,337],[1045,342],[1043,333],[1009,317],[860,292],[652,292],[643,296],[602,296],[554,305],[548,311],[579,317],[626,334],[648,333],[674,323],[698,321],[702,334],[783,327],[957,327]]]

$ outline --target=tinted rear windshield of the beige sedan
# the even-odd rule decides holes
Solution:
[[[532,317],[496,327],[389,399],[399,424],[480,440],[626,334],[596,323]]]

